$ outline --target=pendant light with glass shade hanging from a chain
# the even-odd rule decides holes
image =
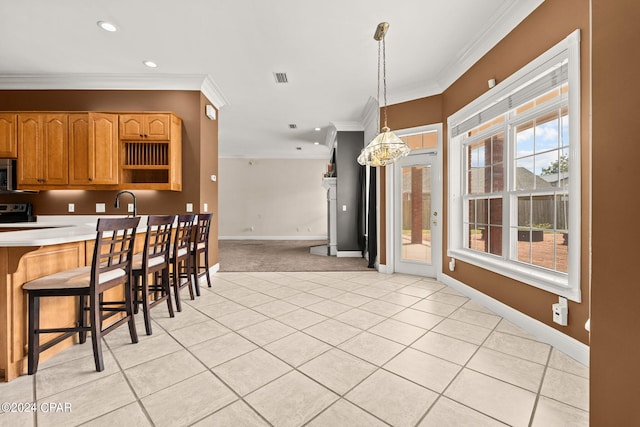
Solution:
[[[386,166],[393,163],[400,157],[409,154],[411,149],[396,134],[391,132],[387,126],[387,58],[384,44],[384,36],[389,28],[388,22],[381,22],[373,35],[378,42],[378,102],[380,102],[380,59],[382,58],[382,95],[384,105],[382,111],[384,115],[384,126],[378,136],[367,145],[358,156],[358,163],[367,166]]]

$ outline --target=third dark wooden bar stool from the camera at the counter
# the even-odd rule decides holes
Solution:
[[[193,222],[195,215],[178,215],[176,232],[170,249],[170,262],[172,267],[171,278],[173,293],[176,299],[176,310],[182,311],[180,303],[180,289],[189,287],[191,299],[195,299],[191,281],[191,242],[193,239]],[[181,279],[186,279],[181,283]]]

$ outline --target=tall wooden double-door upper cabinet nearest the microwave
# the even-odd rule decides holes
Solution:
[[[18,188],[69,183],[68,114],[18,114]]]

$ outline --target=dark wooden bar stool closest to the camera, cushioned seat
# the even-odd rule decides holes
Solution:
[[[40,353],[62,342],[76,333],[80,343],[91,332],[93,358],[96,371],[104,370],[102,358],[102,337],[120,325],[129,325],[131,342],[138,342],[136,324],[133,318],[131,293],[131,259],[139,217],[105,219],[97,225],[96,244],[90,267],[80,267],[41,277],[25,283],[22,288],[29,294],[29,349],[28,373],[38,370]],[[103,301],[103,293],[116,286],[124,285],[124,301]],[[45,297],[78,296],[78,323],[67,328],[40,328],[40,299]],[[86,313],[89,312],[87,324]],[[123,314],[108,326],[103,322],[108,318]],[[62,335],[40,345],[40,334],[61,333]]]

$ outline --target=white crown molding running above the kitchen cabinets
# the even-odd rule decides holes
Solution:
[[[198,90],[217,109],[229,104],[211,76],[204,74],[9,74],[0,90]]]

